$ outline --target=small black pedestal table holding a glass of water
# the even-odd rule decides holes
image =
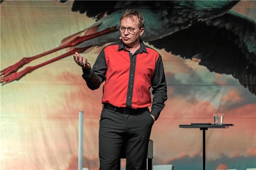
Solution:
[[[223,125],[212,125],[210,123],[202,123],[202,124],[193,124],[191,125],[179,125],[179,128],[200,128],[203,130],[203,170],[205,170],[205,130],[208,128],[229,128],[229,126],[234,126],[233,124],[223,124]]]

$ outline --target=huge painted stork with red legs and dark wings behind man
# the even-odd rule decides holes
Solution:
[[[256,23],[230,12],[236,3],[238,1],[74,1],[72,11],[86,13],[96,22],[63,39],[59,47],[22,58],[2,70],[1,83],[19,80],[27,73],[75,51],[84,52],[91,46],[117,41],[121,13],[127,8],[137,8],[147,21],[142,37],[145,42],[184,59],[196,58],[209,71],[231,74],[256,95]],[[208,41],[204,42],[206,39]],[[69,52],[17,72],[32,60],[67,47]]]

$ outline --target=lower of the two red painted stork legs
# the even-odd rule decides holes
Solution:
[[[5,76],[5,77],[2,77],[0,82],[4,84],[6,83],[10,83],[11,81],[14,81],[14,80],[19,80],[21,77],[25,76],[27,73],[31,73],[32,71],[34,71],[35,69],[39,68],[39,67],[42,67],[44,65],[47,65],[49,63],[52,63],[54,61],[57,61],[61,58],[65,58],[66,56],[69,56],[69,55],[72,55],[74,54],[75,52],[84,52],[86,49],[90,48],[91,46],[88,46],[88,47],[83,47],[83,48],[76,48],[76,49],[73,49],[72,51],[69,51],[63,55],[60,55],[56,58],[53,58],[51,60],[48,60],[48,61],[45,61],[41,64],[38,64],[38,65],[35,65],[35,66],[29,66],[29,67],[26,67],[24,70],[20,71],[20,72],[16,72],[16,73],[12,73],[8,76]]]

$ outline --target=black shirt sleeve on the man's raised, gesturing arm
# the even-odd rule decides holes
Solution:
[[[98,89],[103,81],[106,80],[107,62],[104,48],[99,53],[93,67],[89,69],[82,68],[83,79],[91,90]]]

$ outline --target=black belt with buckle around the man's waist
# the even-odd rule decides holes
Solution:
[[[139,109],[123,108],[123,107],[119,108],[119,107],[115,107],[109,103],[104,103],[103,108],[113,110],[115,112],[119,112],[122,114],[128,114],[128,115],[134,115],[134,114],[138,114],[138,113],[148,110],[148,107],[139,108]]]

